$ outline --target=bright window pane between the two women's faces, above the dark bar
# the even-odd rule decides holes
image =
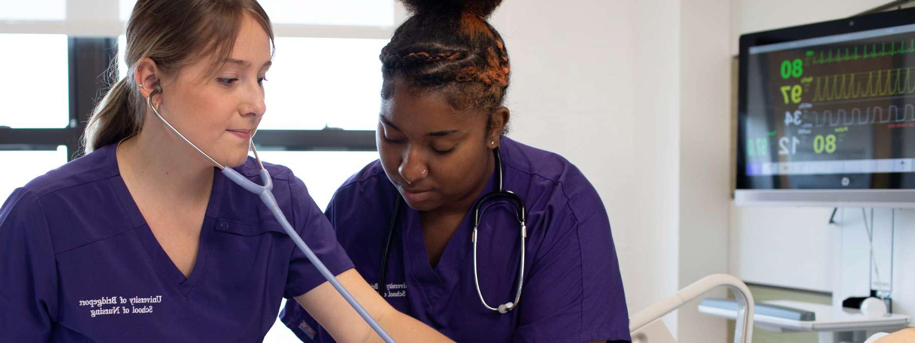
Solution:
[[[375,130],[385,39],[276,38],[264,129]]]

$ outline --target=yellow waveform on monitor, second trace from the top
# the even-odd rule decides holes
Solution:
[[[915,93],[912,67],[814,76],[813,102],[831,102]]]

